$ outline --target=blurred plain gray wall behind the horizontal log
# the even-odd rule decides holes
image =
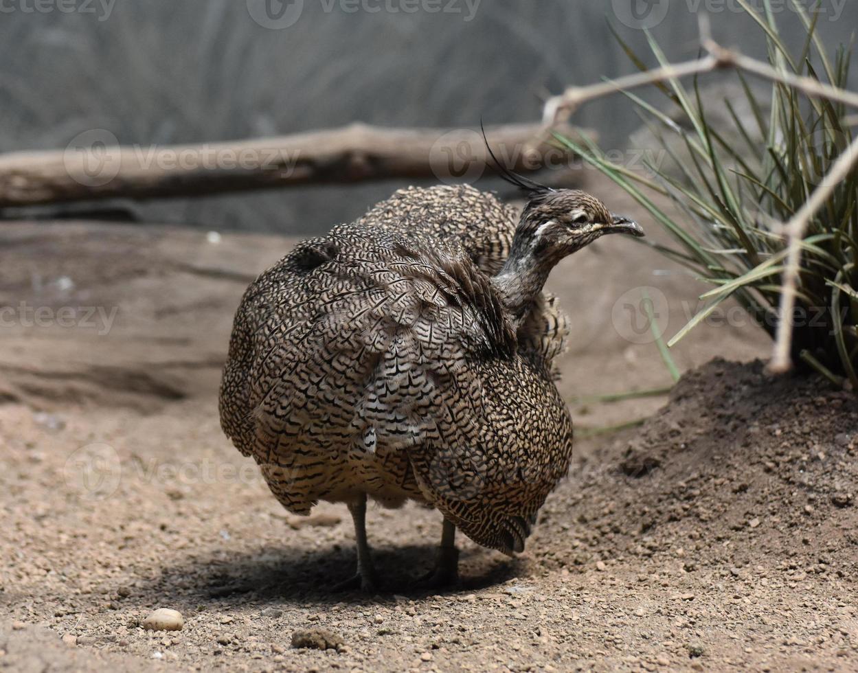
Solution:
[[[355,120],[535,121],[548,93],[631,72],[607,29],[609,21],[647,51],[644,32],[629,20],[631,3],[650,10],[647,21],[657,22],[652,32],[668,57],[697,54],[702,8],[710,10],[716,39],[763,54],[758,29],[734,0],[421,0],[413,13],[406,10],[415,0],[297,0],[286,8],[300,9],[297,21],[281,29],[255,21],[267,22],[266,0],[55,1],[0,0],[0,151],[62,148],[94,128],[149,145]],[[858,27],[858,3],[824,0],[822,7],[826,42],[848,41]],[[798,51],[795,15],[784,10],[778,20]],[[620,97],[588,105],[576,121],[599,129],[603,145],[616,148],[637,127]],[[207,229],[319,231],[352,219],[397,186],[152,202],[140,212]]]

